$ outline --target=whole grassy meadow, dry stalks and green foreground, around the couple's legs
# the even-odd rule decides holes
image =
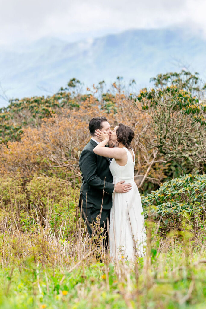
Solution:
[[[77,201],[74,194],[73,214],[61,225],[38,207],[19,220],[17,200],[13,216],[2,207],[0,308],[201,308],[206,226],[197,214],[195,227],[187,223],[164,238],[158,222],[146,221],[145,257],[114,263],[101,238],[90,241]]]

